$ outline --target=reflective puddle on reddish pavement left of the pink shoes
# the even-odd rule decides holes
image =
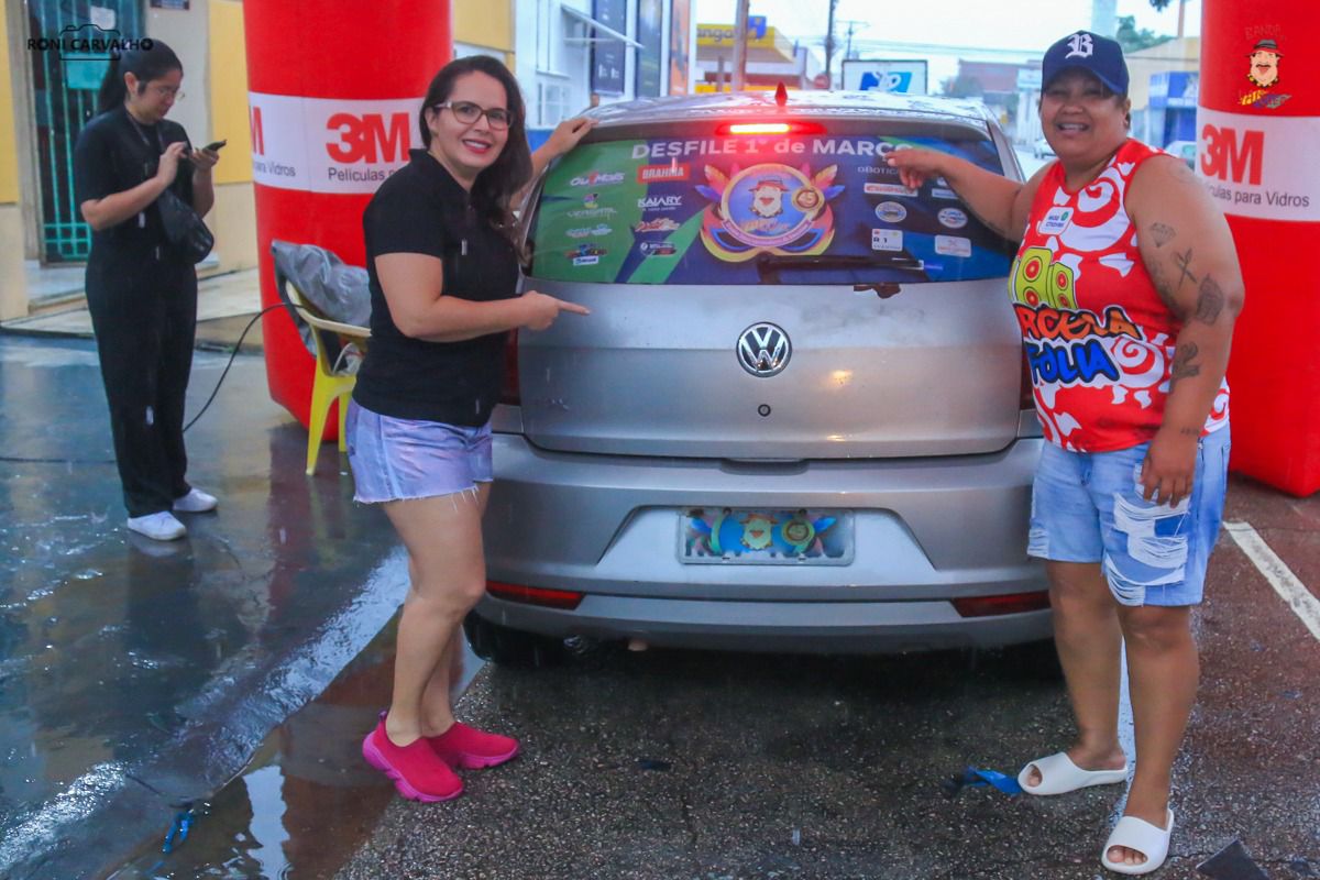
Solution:
[[[193,803],[182,843],[161,851],[162,821],[110,880],[329,877],[347,864],[396,797],[359,751],[389,697],[396,628],[397,617],[214,800]],[[482,664],[466,644],[465,656],[463,689]]]

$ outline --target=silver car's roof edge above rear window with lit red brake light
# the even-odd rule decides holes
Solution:
[[[605,104],[583,113],[601,127],[648,123],[692,121],[697,119],[747,117],[887,117],[927,119],[962,123],[977,128],[994,117],[979,100],[895,95],[880,91],[789,91],[783,108],[770,91],[718,92],[708,95],[668,95]]]

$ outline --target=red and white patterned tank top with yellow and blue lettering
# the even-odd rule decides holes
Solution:
[[[1080,453],[1144,443],[1159,430],[1183,323],[1160,299],[1125,195],[1162,150],[1127,140],[1089,186],[1069,193],[1051,165],[1008,278],[1045,439]],[[1229,387],[1205,431],[1228,425]]]

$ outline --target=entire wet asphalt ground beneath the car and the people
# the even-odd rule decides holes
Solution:
[[[201,352],[190,414],[224,358]],[[1039,648],[912,657],[578,652],[487,666],[461,702],[515,763],[416,805],[360,761],[388,693],[404,561],[330,449],[240,356],[189,434],[223,499],[162,546],[123,528],[92,348],[0,336],[0,876],[1100,877],[1122,790],[1007,797],[941,782],[1064,745]],[[1316,592],[1320,497],[1234,480]],[[1296,604],[1296,603],[1294,603]],[[1225,534],[1196,615],[1203,686],[1159,877],[1241,839],[1320,876],[1320,632]],[[475,665],[474,665],[475,669]],[[319,697],[308,702],[313,697]],[[273,731],[273,732],[272,732]],[[1131,748],[1130,730],[1126,747]],[[193,825],[160,851],[182,805]],[[1229,880],[1233,875],[1224,875]]]

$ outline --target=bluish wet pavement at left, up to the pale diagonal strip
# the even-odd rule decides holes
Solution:
[[[190,417],[226,360],[198,352]],[[124,528],[91,343],[0,336],[0,876],[98,876],[362,652],[404,557],[331,449],[304,476],[259,358],[187,434],[220,509],[168,545]]]

